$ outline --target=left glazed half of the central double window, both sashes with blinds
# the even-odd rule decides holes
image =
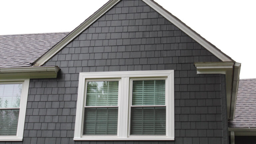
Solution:
[[[117,101],[118,81],[87,82],[83,135],[116,135]]]

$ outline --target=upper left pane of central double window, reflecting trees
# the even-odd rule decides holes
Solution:
[[[118,81],[87,82],[86,106],[117,106]]]

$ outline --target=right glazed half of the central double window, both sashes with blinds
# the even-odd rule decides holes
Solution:
[[[130,134],[166,134],[165,80],[133,80]]]

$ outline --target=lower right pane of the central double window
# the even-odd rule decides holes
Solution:
[[[132,107],[131,135],[165,135],[165,107]]]

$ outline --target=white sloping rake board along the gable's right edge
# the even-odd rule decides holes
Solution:
[[[227,57],[223,52],[221,52],[217,48],[213,47],[211,44],[209,44],[209,42],[207,42],[201,36],[196,34],[195,31],[191,30],[188,26],[186,26],[183,22],[181,22],[175,16],[170,14],[163,7],[156,4],[153,0],[142,0],[142,1],[144,1],[146,4],[148,4],[154,10],[156,10],[158,13],[160,13],[163,17],[165,17],[167,20],[169,20],[171,23],[173,23],[175,26],[177,26],[180,30],[185,32],[188,36],[190,36],[196,42],[201,44],[204,48],[206,48],[208,51],[210,51],[212,54],[214,54],[220,60],[222,60],[222,61],[233,61],[231,58]]]

